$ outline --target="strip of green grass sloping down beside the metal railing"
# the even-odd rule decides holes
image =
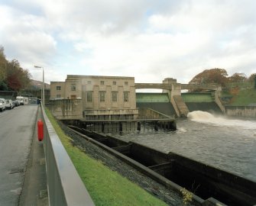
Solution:
[[[46,113],[96,205],[167,205],[73,146],[50,111]]]

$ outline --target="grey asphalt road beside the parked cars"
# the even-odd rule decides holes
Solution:
[[[37,109],[24,105],[0,112],[0,205],[18,205]]]

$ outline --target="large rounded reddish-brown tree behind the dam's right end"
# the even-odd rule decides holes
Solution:
[[[194,76],[189,82],[190,84],[219,84],[224,86],[228,82],[228,73],[225,69],[206,69],[198,75]]]

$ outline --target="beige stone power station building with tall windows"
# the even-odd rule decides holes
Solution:
[[[86,120],[136,119],[134,77],[74,76],[50,82],[51,99],[82,99]]]

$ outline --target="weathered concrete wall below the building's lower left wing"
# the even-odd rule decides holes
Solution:
[[[83,118],[81,99],[50,100],[47,107],[53,116],[59,120],[79,120]]]

